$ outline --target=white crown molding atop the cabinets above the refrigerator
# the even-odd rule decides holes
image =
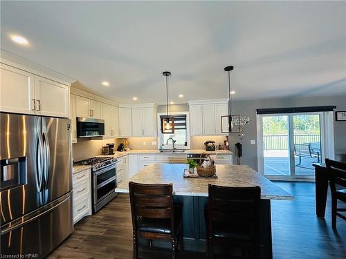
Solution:
[[[1,63],[6,64],[8,66],[19,68],[26,72],[33,73],[34,75],[39,75],[40,77],[44,77],[46,79],[57,81],[58,83],[65,84],[67,86],[71,86],[71,84],[76,81],[72,77],[68,77],[61,73],[58,73],[55,70],[46,68],[45,66],[35,64],[34,62],[31,62],[28,59],[23,59],[19,56],[9,55],[5,53],[7,52],[3,52],[1,50]]]

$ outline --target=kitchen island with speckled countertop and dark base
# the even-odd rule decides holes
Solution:
[[[206,225],[204,208],[208,204],[208,184],[221,186],[261,187],[261,249],[260,258],[272,258],[271,200],[292,200],[293,196],[248,166],[217,165],[217,178],[183,178],[187,164],[149,164],[129,181],[116,188],[129,193],[129,182],[142,184],[173,184],[174,201],[183,205],[183,237],[185,249],[205,249]]]

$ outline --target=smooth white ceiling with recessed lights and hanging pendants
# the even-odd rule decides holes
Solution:
[[[346,2],[1,1],[1,48],[125,103],[164,104],[164,70],[171,101],[227,97],[228,65],[235,99],[346,94]]]

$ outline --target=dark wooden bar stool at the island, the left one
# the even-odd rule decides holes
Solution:
[[[172,242],[172,258],[176,257],[178,238],[183,250],[182,208],[173,203],[172,184],[138,184],[129,182],[134,239],[134,258],[138,258],[138,238]]]

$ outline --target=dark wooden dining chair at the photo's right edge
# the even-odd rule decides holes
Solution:
[[[336,216],[346,220],[346,216],[340,213],[346,209],[338,208],[338,200],[346,202],[346,189],[337,189],[337,185],[346,187],[346,164],[329,159],[325,160],[325,164],[331,190],[331,227],[336,229]]]

